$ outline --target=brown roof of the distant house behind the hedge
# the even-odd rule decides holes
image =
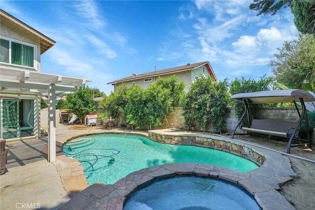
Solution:
[[[170,74],[170,73],[177,73],[177,72],[182,72],[182,71],[188,71],[188,70],[192,70],[192,69],[196,69],[202,65],[206,65],[210,75],[217,80],[216,75],[214,74],[209,61],[204,61],[204,62],[198,62],[198,63],[193,63],[190,64],[188,63],[187,65],[182,65],[182,66],[178,66],[178,67],[173,67],[173,68],[167,68],[167,69],[163,69],[163,70],[157,70],[157,71],[153,71],[153,72],[147,72],[147,73],[143,73],[143,74],[138,74],[135,75],[133,74],[132,76],[128,76],[125,77],[123,79],[119,79],[119,80],[115,80],[113,82],[109,82],[107,83],[107,85],[115,85],[116,83],[121,83],[121,82],[127,82],[127,81],[132,81],[135,79],[140,79],[140,78],[146,78],[146,77],[152,77],[152,76],[161,76],[161,75],[165,75],[165,74]]]

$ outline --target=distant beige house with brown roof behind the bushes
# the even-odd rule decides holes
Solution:
[[[212,70],[212,67],[209,63],[209,61],[204,62],[198,62],[173,68],[167,68],[163,70],[156,70],[148,73],[143,74],[132,74],[129,77],[125,77],[123,79],[115,80],[113,82],[107,83],[107,85],[113,85],[114,86],[114,92],[117,89],[118,86],[122,85],[123,83],[130,87],[131,85],[139,85],[142,88],[147,88],[151,83],[155,82],[158,77],[162,77],[164,79],[167,79],[168,77],[171,77],[172,75],[175,75],[179,81],[184,81],[186,83],[185,91],[187,92],[189,90],[189,85],[192,80],[194,80],[199,75],[204,75],[206,77],[212,76],[215,81],[217,81],[217,77]]]

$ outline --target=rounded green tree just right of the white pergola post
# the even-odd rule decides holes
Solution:
[[[70,112],[75,114],[81,121],[85,115],[95,112],[95,101],[90,90],[85,85],[79,90],[67,96],[66,105]]]

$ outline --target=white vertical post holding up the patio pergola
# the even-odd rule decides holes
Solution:
[[[56,161],[56,87],[50,84],[48,90],[48,161]]]

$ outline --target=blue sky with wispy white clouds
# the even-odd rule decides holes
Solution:
[[[41,72],[106,83],[209,61],[218,80],[273,76],[270,60],[297,37],[289,8],[256,16],[252,0],[1,0],[0,7],[56,41]]]

